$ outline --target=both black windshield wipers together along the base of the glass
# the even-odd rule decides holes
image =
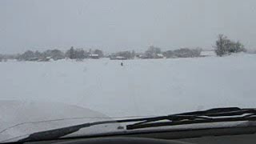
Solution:
[[[238,107],[217,108],[211,110],[194,111],[182,114],[171,114],[151,118],[133,118],[124,120],[102,121],[83,123],[75,126],[66,126],[54,130],[46,130],[30,134],[18,142],[35,142],[40,140],[54,140],[67,134],[72,134],[82,128],[102,124],[137,122],[126,126],[126,130],[141,129],[154,126],[175,126],[206,122],[233,122],[233,121],[255,121],[256,109],[240,109]],[[168,122],[161,122],[168,120]]]

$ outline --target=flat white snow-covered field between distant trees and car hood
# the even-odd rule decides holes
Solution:
[[[120,62],[124,66],[120,66]],[[0,62],[0,101],[61,102],[110,117],[256,106],[256,55]]]

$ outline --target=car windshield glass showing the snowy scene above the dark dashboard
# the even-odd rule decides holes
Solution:
[[[254,108],[255,15],[254,0],[2,0],[0,142],[86,122]]]

